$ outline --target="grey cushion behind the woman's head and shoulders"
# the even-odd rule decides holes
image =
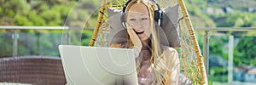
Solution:
[[[172,48],[181,46],[179,32],[177,29],[178,4],[163,9],[163,18],[160,30],[160,43]],[[108,45],[111,43],[127,42],[128,33],[121,24],[121,10],[108,8]]]

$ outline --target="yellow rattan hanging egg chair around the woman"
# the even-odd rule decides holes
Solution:
[[[179,4],[178,21],[179,34],[181,37],[181,48],[177,48],[181,71],[180,82],[185,84],[208,84],[207,72],[204,65],[204,58],[197,42],[194,28],[191,24],[187,8],[183,0],[156,0],[160,3],[160,7],[166,7]],[[94,33],[90,39],[89,46],[106,47],[108,45],[108,7],[122,9],[127,0],[102,0],[102,5],[98,11],[98,18]]]

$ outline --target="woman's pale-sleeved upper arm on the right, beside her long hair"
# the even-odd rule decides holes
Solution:
[[[170,84],[178,85],[179,74],[180,74],[180,64],[177,55],[177,51],[174,48],[167,48],[166,53],[166,65],[170,70]]]

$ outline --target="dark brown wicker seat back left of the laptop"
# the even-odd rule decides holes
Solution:
[[[0,82],[64,85],[61,59],[56,57],[10,57],[0,59]]]

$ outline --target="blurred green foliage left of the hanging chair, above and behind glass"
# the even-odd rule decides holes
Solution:
[[[0,26],[95,26],[100,0],[0,0]],[[84,8],[85,7],[85,8]],[[76,10],[76,11],[72,11]],[[92,14],[92,15],[90,15]],[[90,17],[90,20],[88,20]],[[4,33],[5,32],[5,33]],[[0,57],[12,56],[12,32],[1,30]],[[59,56],[62,31],[19,30],[18,55]],[[64,32],[64,31],[63,31]],[[88,45],[92,31],[71,31],[73,44]],[[80,34],[80,36],[78,35]],[[83,39],[81,39],[83,38]]]

